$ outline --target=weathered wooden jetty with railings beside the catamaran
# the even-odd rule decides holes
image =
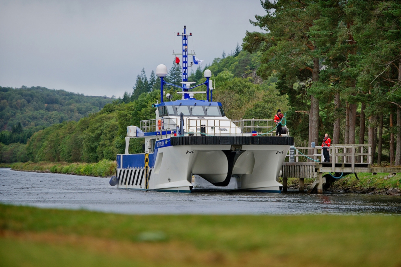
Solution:
[[[304,155],[300,151],[304,151]],[[371,167],[371,145],[332,145],[329,155],[330,163],[324,163],[322,147],[292,147],[287,155],[288,162],[282,165],[282,191],[287,192],[288,178],[300,179],[300,192],[304,191],[304,179],[314,178],[315,181],[308,193],[322,194],[323,185],[326,183],[323,173],[401,173],[400,167]],[[301,162],[300,158],[308,160]]]

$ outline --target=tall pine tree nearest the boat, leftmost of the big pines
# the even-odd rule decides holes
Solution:
[[[280,78],[287,81],[285,87],[291,90],[296,80],[302,81],[298,94],[310,95],[310,110],[303,110],[309,115],[308,144],[317,144],[319,137],[319,100],[314,86],[320,81],[320,46],[324,46],[320,38],[326,35],[319,28],[312,28],[316,22],[321,22],[318,3],[312,0],[264,1],[262,6],[267,15],[255,16],[257,21],[252,24],[268,32],[247,32],[244,38],[244,49],[264,51],[263,63],[257,71],[262,78],[279,73]]]

